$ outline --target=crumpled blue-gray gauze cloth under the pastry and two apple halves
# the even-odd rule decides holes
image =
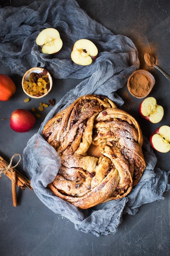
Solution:
[[[0,8],[0,24],[0,58],[11,68],[12,74],[23,76],[29,68],[40,66],[57,79],[84,79],[56,103],[23,151],[24,171],[38,198],[53,212],[73,222],[75,229],[96,236],[114,234],[124,213],[135,214],[142,204],[163,200],[163,192],[170,189],[169,171],[155,168],[157,158],[145,137],[146,170],[139,184],[126,197],[79,210],[46,189],[60,168],[60,157],[43,139],[44,125],[58,111],[85,94],[104,94],[117,106],[122,105],[124,102],[116,91],[139,69],[138,53],[132,41],[113,34],[91,19],[75,0],[35,1],[29,6]],[[63,47],[57,54],[42,54],[35,43],[40,31],[48,27],[60,32]],[[73,44],[81,38],[93,41],[99,50],[96,60],[89,66],[71,61]]]

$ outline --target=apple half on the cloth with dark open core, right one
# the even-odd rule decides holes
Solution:
[[[95,61],[97,54],[98,49],[91,40],[79,39],[73,45],[71,59],[78,65],[87,66]]]

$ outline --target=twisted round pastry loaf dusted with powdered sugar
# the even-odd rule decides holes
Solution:
[[[123,198],[146,167],[137,121],[106,97],[85,95],[44,126],[61,167],[48,188],[81,209]]]

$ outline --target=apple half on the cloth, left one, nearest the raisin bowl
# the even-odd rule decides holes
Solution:
[[[57,29],[49,27],[43,29],[36,38],[36,44],[41,46],[42,53],[54,54],[62,48],[62,40]]]

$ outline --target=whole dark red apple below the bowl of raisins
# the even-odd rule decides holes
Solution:
[[[15,132],[28,132],[35,124],[35,117],[25,109],[13,111],[10,118],[11,129]]]

